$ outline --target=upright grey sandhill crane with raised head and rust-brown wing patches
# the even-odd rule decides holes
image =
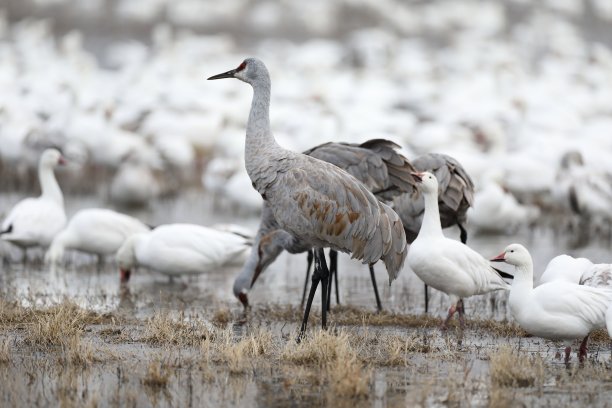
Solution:
[[[236,69],[208,79],[222,78],[237,78],[253,87],[246,131],[246,170],[279,226],[312,246],[315,270],[300,332],[306,330],[319,282],[321,324],[325,328],[329,270],[323,249],[350,252],[353,258],[367,264],[382,259],[391,283],[407,253],[401,220],[346,171],[276,143],[270,130],[271,82],[263,62],[247,58]]]

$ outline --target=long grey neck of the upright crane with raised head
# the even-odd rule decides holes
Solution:
[[[257,184],[259,173],[275,164],[271,160],[272,156],[281,148],[270,129],[270,78],[262,76],[252,86],[253,101],[247,123],[245,161],[251,181]]]

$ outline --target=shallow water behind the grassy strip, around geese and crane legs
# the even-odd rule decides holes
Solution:
[[[9,203],[17,201],[17,196],[6,195],[1,201],[0,206],[8,206]],[[79,208],[96,205],[107,204],[96,197],[72,198],[67,200],[67,211],[72,214]],[[213,200],[198,191],[189,192],[180,198],[161,200],[151,208],[131,213],[152,225],[171,222],[193,222],[202,225],[235,223],[255,231],[259,222],[256,215],[237,217],[221,211]],[[458,238],[458,230],[447,229],[445,233]],[[570,248],[565,235],[545,228],[519,231],[510,236],[472,233],[468,242],[473,249],[489,258],[497,255],[509,243],[522,243],[529,248],[533,256],[536,276],[539,276],[551,258],[562,253],[585,256],[594,262],[612,261],[608,249],[610,245],[605,240],[593,240],[587,246],[574,249]],[[19,259],[19,250],[10,248],[6,243],[2,245],[5,253],[9,252],[13,259]],[[129,285],[122,287],[113,259],[107,259],[103,265],[98,265],[96,259],[91,256],[71,252],[66,257],[65,265],[51,270],[37,262],[42,251],[33,252],[30,254],[30,262],[25,265],[19,262],[4,265],[0,277],[0,293],[6,298],[35,298],[38,303],[44,304],[69,297],[81,306],[97,311],[121,308],[138,316],[147,316],[160,307],[171,310],[207,310],[212,305],[219,304],[236,308],[239,306],[231,290],[233,279],[240,271],[239,262],[212,273],[186,276],[174,281],[156,272],[137,270]],[[257,281],[250,293],[250,302],[299,305],[305,270],[305,254],[281,254]],[[339,270],[340,302],[374,309],[376,304],[367,267],[351,260],[346,254],[340,254]],[[376,265],[375,270],[381,300],[386,310],[400,313],[424,311],[423,285],[408,266],[404,267],[390,287],[384,266]],[[509,319],[505,307],[506,298],[505,293],[493,293],[468,299],[468,314],[498,320]],[[319,299],[319,296],[315,298],[315,305]],[[335,296],[332,301],[335,304]],[[430,307],[433,314],[444,315],[448,308],[446,296],[430,289]]]

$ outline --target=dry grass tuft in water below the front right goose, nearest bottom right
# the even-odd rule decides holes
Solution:
[[[510,346],[490,354],[490,377],[493,386],[532,387],[544,380],[544,360],[539,355],[526,356]]]

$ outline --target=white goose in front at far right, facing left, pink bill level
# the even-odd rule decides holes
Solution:
[[[516,267],[509,304],[518,324],[534,336],[563,341],[565,363],[569,363],[571,343],[583,339],[578,352],[583,362],[589,333],[606,325],[612,290],[578,285],[564,279],[534,288],[533,261],[529,251],[520,244],[509,245],[491,261]]]

